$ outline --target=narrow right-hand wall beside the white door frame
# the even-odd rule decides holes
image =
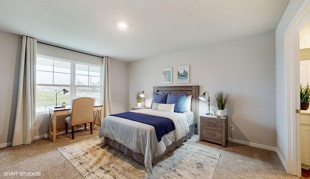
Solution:
[[[288,28],[294,15],[305,0],[291,0],[276,29],[276,116],[277,116],[277,149],[286,163],[287,132],[285,109],[285,61],[284,31]],[[285,166],[284,166],[285,167]]]

